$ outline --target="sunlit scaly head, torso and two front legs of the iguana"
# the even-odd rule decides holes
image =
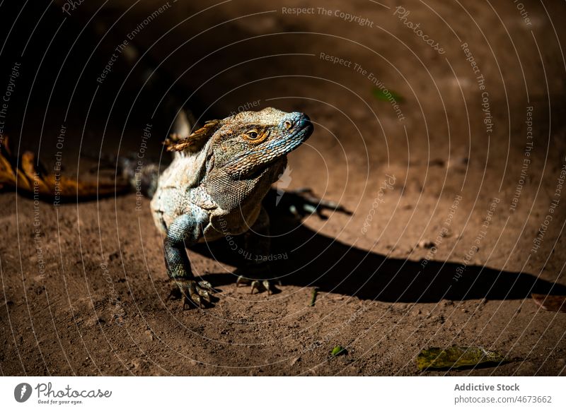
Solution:
[[[168,150],[178,153],[158,179],[151,210],[165,236],[168,276],[185,297],[183,308],[210,302],[212,291],[208,283],[195,280],[185,248],[248,232],[247,251],[269,253],[269,218],[262,199],[282,174],[287,154],[312,131],[305,114],[267,108],[209,121],[188,138],[168,143]],[[250,261],[238,271],[253,279],[252,292],[260,286],[272,290],[265,280],[267,263]]]

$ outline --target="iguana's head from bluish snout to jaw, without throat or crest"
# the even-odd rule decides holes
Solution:
[[[285,157],[313,133],[306,114],[269,107],[219,121],[212,136],[214,167],[238,177],[255,174]]]

